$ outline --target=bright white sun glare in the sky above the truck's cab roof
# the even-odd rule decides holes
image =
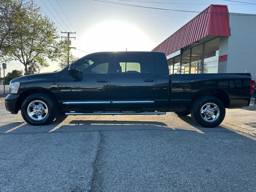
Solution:
[[[122,21],[107,21],[92,26],[82,37],[84,49],[100,51],[149,51],[150,39],[137,27]]]

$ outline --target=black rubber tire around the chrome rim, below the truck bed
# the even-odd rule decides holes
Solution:
[[[213,122],[208,122],[206,121],[207,119],[204,120],[202,117],[204,116],[203,113],[201,116],[201,108],[207,103],[214,103],[219,108],[219,116]],[[225,118],[225,114],[226,114],[226,109],[223,102],[213,96],[205,96],[205,97],[198,98],[196,101],[194,101],[191,108],[191,117],[193,121],[198,123],[202,127],[211,127],[211,128],[217,127],[220,123],[222,123],[223,119]],[[213,120],[212,118],[209,118],[209,119]]]

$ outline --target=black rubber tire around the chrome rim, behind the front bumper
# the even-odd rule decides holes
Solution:
[[[37,100],[45,103],[46,107],[48,109],[48,113],[43,117],[42,120],[32,119],[32,117],[38,118],[38,116],[33,115],[32,117],[30,117],[30,115],[27,112],[28,105],[30,105],[30,103],[32,101],[37,101]],[[32,95],[28,96],[27,98],[25,98],[25,100],[22,102],[22,105],[21,105],[21,115],[22,115],[23,119],[28,124],[31,124],[33,126],[43,126],[43,125],[49,124],[50,122],[52,122],[54,120],[57,112],[58,112],[58,107],[57,107],[56,102],[47,94],[42,94],[42,93],[40,93],[40,94],[36,93],[36,94],[32,94]]]

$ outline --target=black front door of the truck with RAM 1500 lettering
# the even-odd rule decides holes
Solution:
[[[112,54],[92,55],[76,63],[75,74],[63,70],[59,94],[65,111],[108,111],[111,107]]]

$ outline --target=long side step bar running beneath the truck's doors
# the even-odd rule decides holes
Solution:
[[[65,113],[65,115],[153,115],[153,114],[157,114],[157,115],[160,115],[160,114],[166,114],[166,112],[141,112],[141,113],[120,113],[120,112],[117,112],[117,113]]]

